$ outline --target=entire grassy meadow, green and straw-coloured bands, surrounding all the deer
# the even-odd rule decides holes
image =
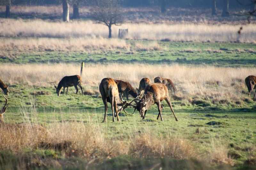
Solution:
[[[256,99],[244,82],[256,75],[255,21],[209,9],[124,8],[125,23],[107,39],[107,27],[88,20],[90,8],[69,23],[60,6],[14,5],[11,19],[0,18],[0,77],[10,91],[0,169],[255,168]],[[129,29],[125,39],[119,28]],[[70,87],[58,97],[54,85],[79,75],[81,62],[84,94]],[[101,123],[102,78],[138,88],[157,76],[177,88],[169,95],[178,122],[163,101],[163,122],[154,105],[145,120],[127,108],[132,115],[112,122],[108,109]]]

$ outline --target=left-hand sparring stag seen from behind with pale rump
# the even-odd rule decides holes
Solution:
[[[105,105],[105,115],[102,122],[107,121],[107,102],[111,104],[113,122],[115,122],[114,116],[117,117],[117,121],[120,122],[118,114],[123,110],[126,101],[122,103],[122,101],[120,100],[115,80],[113,78],[103,78],[100,82],[99,90],[102,101]]]

